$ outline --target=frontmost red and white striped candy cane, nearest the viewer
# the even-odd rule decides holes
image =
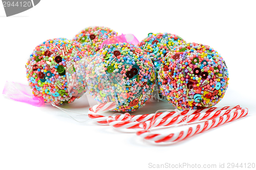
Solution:
[[[202,133],[206,130],[209,130],[210,128],[215,128],[220,125],[223,125],[225,123],[231,122],[233,120],[236,120],[238,118],[244,117],[248,114],[247,108],[238,108],[234,112],[229,112],[227,114],[224,114],[220,117],[216,117],[214,119],[207,120],[204,123],[199,123],[198,125],[193,125],[192,127],[189,127],[188,129],[176,133],[170,133],[167,135],[159,134],[159,133],[153,133],[150,130],[145,130],[145,125],[142,129],[137,131],[137,135],[146,139],[151,140],[154,142],[176,142],[180,140],[184,140],[187,137],[194,136],[195,134]],[[150,123],[144,123],[144,124],[150,124]]]

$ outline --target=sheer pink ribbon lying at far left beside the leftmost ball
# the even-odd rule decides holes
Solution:
[[[45,105],[44,98],[34,96],[30,87],[24,84],[6,81],[3,94],[14,101],[28,103],[33,106]]]

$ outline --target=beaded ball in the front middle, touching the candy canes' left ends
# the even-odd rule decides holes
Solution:
[[[154,65],[130,43],[105,45],[87,66],[89,93],[98,103],[115,102],[113,111],[135,111],[151,98]]]

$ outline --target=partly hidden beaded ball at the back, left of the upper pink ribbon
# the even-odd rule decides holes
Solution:
[[[108,27],[88,27],[75,36],[73,41],[78,41],[84,46],[87,55],[94,55],[100,50],[102,42],[108,38],[117,36],[117,32]]]

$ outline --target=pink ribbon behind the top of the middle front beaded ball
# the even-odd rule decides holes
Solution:
[[[113,44],[113,43],[119,43],[119,42],[126,42],[134,45],[137,45],[139,43],[138,39],[133,34],[122,34],[117,37],[106,39],[101,44],[100,48],[102,48],[104,44]]]

